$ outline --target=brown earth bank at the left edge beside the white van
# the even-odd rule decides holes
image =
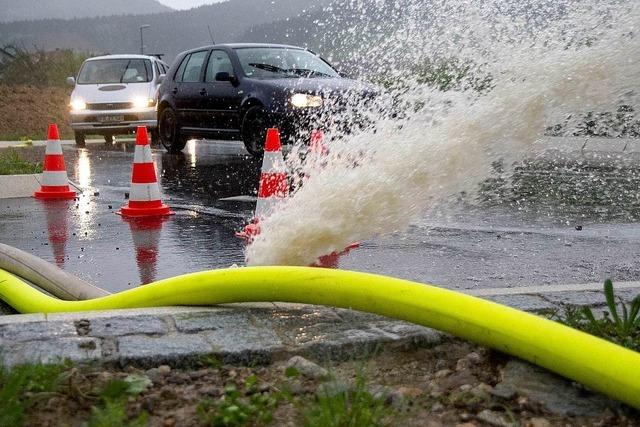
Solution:
[[[71,138],[71,87],[0,85],[0,140],[44,139],[49,123],[57,123],[62,138]]]

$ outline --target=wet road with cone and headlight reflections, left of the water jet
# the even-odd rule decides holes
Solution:
[[[109,291],[244,261],[234,237],[252,206],[218,202],[256,192],[259,165],[238,145],[189,143],[184,154],[154,151],[165,198],[175,215],[128,221],[115,212],[129,191],[133,145],[66,146],[69,178],[85,189],[77,201],[13,199],[0,208],[0,241],[33,253]]]

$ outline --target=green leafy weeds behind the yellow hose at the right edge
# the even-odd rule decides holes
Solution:
[[[607,310],[602,317],[596,317],[589,307],[577,306],[566,307],[561,315],[553,317],[572,328],[640,351],[640,295],[630,305],[620,298],[616,303],[613,283],[607,279],[604,282],[604,296]]]

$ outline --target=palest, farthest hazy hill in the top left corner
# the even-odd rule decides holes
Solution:
[[[0,22],[140,15],[171,10],[156,0],[0,0]]]

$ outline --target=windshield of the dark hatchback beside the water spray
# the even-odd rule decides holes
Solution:
[[[329,64],[307,50],[284,47],[251,47],[235,50],[247,77],[276,79],[338,76]]]

